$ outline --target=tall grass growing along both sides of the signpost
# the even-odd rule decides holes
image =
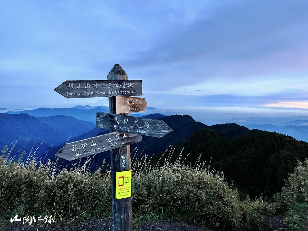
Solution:
[[[82,166],[55,169],[57,163],[26,163],[0,157],[0,218],[8,222],[16,214],[53,215],[57,221],[76,218],[110,218],[110,168],[88,171]],[[241,222],[238,192],[223,173],[209,171],[199,162],[183,165],[179,154],[163,166],[149,165],[146,158],[132,163],[132,212],[135,221],[158,217],[198,222],[215,229],[237,227]]]

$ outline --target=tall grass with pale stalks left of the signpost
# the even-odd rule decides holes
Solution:
[[[53,215],[58,221],[67,218],[110,217],[110,170],[99,168],[91,174],[85,166],[55,169],[50,160],[37,167],[35,159],[26,163],[0,157],[0,218],[16,214]]]

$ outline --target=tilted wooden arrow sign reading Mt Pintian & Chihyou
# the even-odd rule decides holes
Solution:
[[[55,155],[65,160],[76,160],[140,141],[142,141],[140,135],[126,132],[111,132],[101,136],[67,143]]]

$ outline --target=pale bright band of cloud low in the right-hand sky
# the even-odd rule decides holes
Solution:
[[[308,73],[290,78],[290,75],[255,76],[253,79],[214,78],[169,89],[170,94],[185,95],[235,95],[235,96],[270,96],[273,98],[295,100],[307,98]],[[291,75],[291,76],[294,76]],[[184,82],[183,84],[189,84]],[[197,90],[198,89],[198,90]],[[290,99],[289,99],[290,100]]]

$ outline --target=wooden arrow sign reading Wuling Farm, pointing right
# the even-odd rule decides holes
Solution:
[[[96,113],[96,127],[153,137],[162,137],[172,132],[172,129],[163,120],[152,120],[104,112]]]

